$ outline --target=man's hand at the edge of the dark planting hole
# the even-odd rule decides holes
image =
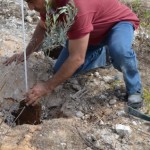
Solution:
[[[48,82],[40,82],[29,90],[26,96],[26,104],[35,106],[42,96],[49,94],[51,90],[48,88]]]

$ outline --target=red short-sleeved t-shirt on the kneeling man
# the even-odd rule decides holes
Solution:
[[[56,6],[66,5],[68,0],[55,0]],[[75,22],[68,31],[69,39],[78,39],[90,33],[89,44],[100,43],[109,30],[120,21],[129,21],[137,29],[139,19],[118,0],[74,0],[78,9]],[[45,15],[41,14],[45,21]]]

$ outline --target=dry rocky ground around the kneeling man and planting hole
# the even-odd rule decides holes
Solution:
[[[24,64],[2,62],[23,49],[21,13],[15,0],[0,0],[0,6],[0,150],[150,150],[150,124],[125,112],[122,74],[113,67],[69,79],[42,99],[41,124],[16,126],[11,112],[24,99]],[[25,7],[26,43],[38,19]],[[149,91],[150,50],[138,43],[143,87]],[[29,87],[50,78],[54,62],[42,52],[31,55]]]

